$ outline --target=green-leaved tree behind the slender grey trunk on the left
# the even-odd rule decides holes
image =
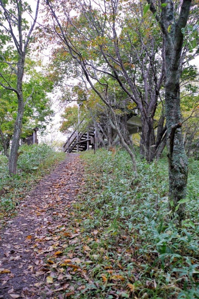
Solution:
[[[28,97],[33,89],[34,91],[31,99],[24,105],[21,138],[32,133],[34,127],[38,127],[42,133],[53,116],[51,100],[47,96],[47,93],[53,89],[53,83],[43,75],[42,71],[36,71],[38,65],[42,67],[40,62],[36,63],[33,60],[26,59],[22,84],[24,97]],[[6,71],[4,64],[0,63],[0,67]],[[9,69],[7,69],[7,72],[9,73]],[[10,82],[11,79],[12,85],[16,84],[16,77],[10,78]],[[18,99],[16,94],[1,86],[0,94],[0,143],[4,154],[9,157],[14,123],[17,117]]]

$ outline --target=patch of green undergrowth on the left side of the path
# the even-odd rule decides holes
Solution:
[[[10,177],[8,160],[0,155],[0,219],[15,214],[15,207],[26,193],[60,161],[63,152],[55,152],[46,144],[23,145],[19,150],[17,175]]]

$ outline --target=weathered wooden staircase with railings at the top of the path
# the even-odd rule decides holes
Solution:
[[[63,152],[83,152],[88,150],[90,145],[94,148],[95,132],[88,129],[87,132],[78,132],[75,130],[63,145]]]

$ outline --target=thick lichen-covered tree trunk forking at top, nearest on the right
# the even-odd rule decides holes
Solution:
[[[181,132],[180,61],[184,40],[182,32],[187,24],[192,1],[181,1],[178,17],[176,17],[175,3],[172,0],[162,0],[161,3],[151,0],[147,0],[147,2],[148,8],[160,25],[165,42],[165,113],[169,161],[169,201],[172,211],[176,211],[179,218],[184,219],[188,162]],[[161,11],[161,14],[158,11]]]

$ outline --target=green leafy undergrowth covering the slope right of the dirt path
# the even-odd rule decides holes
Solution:
[[[199,161],[189,161],[187,218],[179,228],[168,208],[166,158],[148,164],[137,157],[135,186],[124,150],[81,158],[86,183],[72,215],[91,281],[75,298],[199,298]]]

